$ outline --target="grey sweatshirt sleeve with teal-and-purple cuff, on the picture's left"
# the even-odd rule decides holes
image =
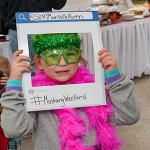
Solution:
[[[25,98],[18,86],[7,86],[0,100],[3,107],[1,126],[5,135],[12,139],[30,134],[36,122],[36,113],[26,112]]]

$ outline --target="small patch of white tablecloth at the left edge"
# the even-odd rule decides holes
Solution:
[[[9,42],[0,42],[0,55],[5,56],[9,60],[11,59],[12,53],[9,50]]]

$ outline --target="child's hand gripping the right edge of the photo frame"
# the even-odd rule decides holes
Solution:
[[[99,62],[102,64],[105,71],[117,69],[115,57],[105,48],[99,51]]]

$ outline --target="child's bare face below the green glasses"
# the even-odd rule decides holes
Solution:
[[[66,82],[71,79],[78,69],[78,63],[67,64],[63,55],[60,57],[58,65],[48,66],[45,60],[40,58],[40,63],[38,63],[37,66],[39,69],[42,69],[48,77],[59,82]]]

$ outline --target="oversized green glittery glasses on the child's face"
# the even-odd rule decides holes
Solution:
[[[44,51],[40,54],[41,58],[45,60],[47,66],[58,65],[60,63],[61,56],[67,64],[76,64],[80,60],[81,50],[74,48],[68,49],[54,49],[52,51]]]

